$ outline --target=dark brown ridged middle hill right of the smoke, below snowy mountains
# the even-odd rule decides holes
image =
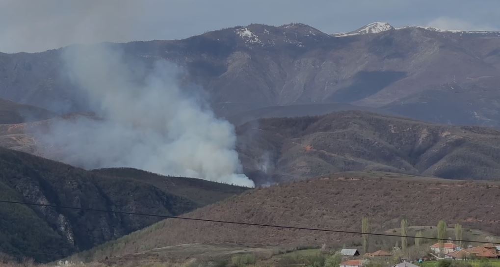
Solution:
[[[246,174],[257,184],[341,171],[454,179],[500,177],[500,131],[366,111],[267,118],[236,128]]]

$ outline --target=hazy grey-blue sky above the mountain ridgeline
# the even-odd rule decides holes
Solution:
[[[249,23],[334,33],[373,21],[498,30],[500,0],[0,0],[0,51],[178,39]]]

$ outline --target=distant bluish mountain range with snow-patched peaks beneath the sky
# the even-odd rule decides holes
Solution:
[[[327,34],[301,23],[251,24],[114,47],[146,65],[166,59],[182,66],[185,80],[203,87],[223,117],[348,103],[426,121],[499,125],[498,32],[374,22]],[[64,73],[65,49],[1,53],[0,97],[59,112],[87,110]]]

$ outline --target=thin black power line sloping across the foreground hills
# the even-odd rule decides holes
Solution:
[[[273,227],[273,228],[283,228],[283,229],[323,231],[323,232],[336,232],[336,233],[351,233],[351,234],[368,234],[368,235],[391,236],[391,237],[410,237],[410,238],[431,239],[431,240],[439,240],[439,241],[442,240],[442,241],[455,241],[455,242],[468,242],[468,243],[500,244],[500,242],[485,242],[485,241],[473,241],[473,240],[462,240],[462,239],[451,239],[451,238],[447,239],[447,238],[435,238],[435,237],[428,237],[428,236],[421,236],[420,237],[420,236],[414,236],[414,235],[400,235],[400,234],[390,234],[390,233],[360,232],[360,231],[310,228],[310,227],[262,224],[262,223],[251,223],[251,222],[228,221],[228,220],[190,218],[190,217],[180,217],[180,216],[170,216],[170,215],[150,214],[150,213],[139,213],[139,212],[128,212],[128,211],[118,211],[118,210],[107,210],[107,209],[97,209],[97,208],[85,208],[85,207],[73,207],[73,206],[60,206],[60,205],[51,205],[51,204],[29,203],[29,202],[22,202],[22,201],[0,200],[0,202],[10,203],[10,204],[24,204],[24,205],[32,205],[32,206],[46,206],[46,207],[55,207],[55,208],[76,209],[76,210],[84,210],[84,211],[107,212],[107,213],[115,213],[115,214],[126,214],[126,215],[137,215],[137,216],[151,216],[151,217],[160,217],[160,218],[228,223],[228,224],[238,224],[238,225],[247,225],[247,226],[262,226],[262,227]]]

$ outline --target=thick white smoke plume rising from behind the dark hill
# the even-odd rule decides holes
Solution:
[[[65,49],[68,74],[96,118],[52,123],[37,136],[51,150],[44,154],[84,168],[126,166],[254,186],[240,174],[234,127],[179,88],[175,66],[158,60],[148,68],[139,60],[125,61],[116,49]]]

